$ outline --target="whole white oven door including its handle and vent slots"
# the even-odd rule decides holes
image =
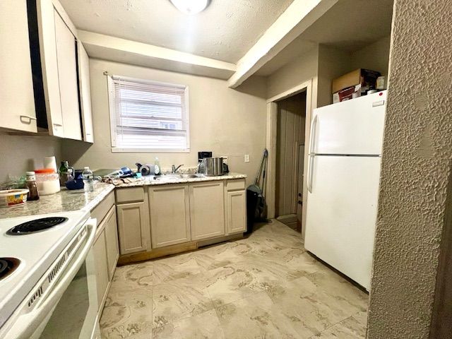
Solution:
[[[42,276],[35,287],[38,294],[32,290],[8,320],[6,333],[0,335],[2,339],[100,337],[92,250],[96,226],[97,220],[89,219],[81,227]],[[61,261],[62,258],[67,259]],[[28,300],[33,296],[37,298],[30,306]]]

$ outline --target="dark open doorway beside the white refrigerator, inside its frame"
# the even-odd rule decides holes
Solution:
[[[302,231],[306,90],[276,102],[275,216]]]

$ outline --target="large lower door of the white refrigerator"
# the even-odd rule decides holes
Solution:
[[[305,248],[370,287],[380,157],[311,157]]]

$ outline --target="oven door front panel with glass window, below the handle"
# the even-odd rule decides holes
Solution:
[[[99,336],[93,249],[69,287],[31,338],[85,339]]]

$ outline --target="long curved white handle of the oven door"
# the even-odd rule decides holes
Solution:
[[[44,319],[45,316],[49,314],[49,312],[51,312],[55,305],[59,302],[59,299],[61,299],[61,296],[67,290],[78,270],[80,270],[81,266],[85,262],[86,256],[88,256],[88,252],[94,244],[97,220],[90,218],[87,224],[86,228],[88,235],[85,238],[87,240],[85,246],[81,250],[81,253],[76,258],[73,258],[75,261],[71,263],[68,270],[64,272],[64,275],[59,278],[57,285],[55,285],[54,289],[49,293],[47,298],[37,305],[35,309],[30,311],[30,313],[20,316],[20,329],[22,331],[19,330],[19,326],[17,326],[16,329],[20,331],[20,333],[17,333],[14,331],[14,328],[11,328],[8,335],[11,334],[13,336],[7,336],[6,338],[30,338],[29,331],[34,331],[35,328],[40,326],[42,319]]]

